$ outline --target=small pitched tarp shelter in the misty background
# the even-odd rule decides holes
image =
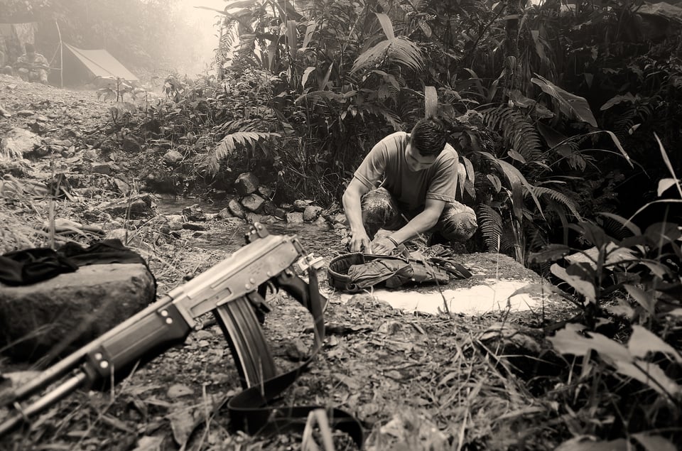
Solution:
[[[136,82],[138,78],[104,49],[83,50],[63,43],[63,76],[65,85],[101,84],[121,78]]]

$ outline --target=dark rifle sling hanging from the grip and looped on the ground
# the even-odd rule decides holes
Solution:
[[[306,367],[313,362],[315,355],[318,354],[323,344],[325,337],[323,303],[326,300],[323,301],[324,298],[320,296],[318,276],[315,271],[309,270],[308,277],[308,300],[306,301],[305,296],[301,296],[301,298],[294,297],[313,315],[315,342],[310,352],[310,357],[298,368],[278,374],[261,384],[250,386],[229,399],[227,403],[229,418],[234,428],[238,430],[259,435],[275,435],[292,431],[303,432],[308,414],[311,411],[324,408],[322,406],[268,406],[268,403],[291,386],[296,381],[298,375],[305,371]],[[327,412],[330,425],[350,435],[357,447],[362,449],[364,432],[359,420],[350,415],[350,413],[337,408],[324,409]]]

